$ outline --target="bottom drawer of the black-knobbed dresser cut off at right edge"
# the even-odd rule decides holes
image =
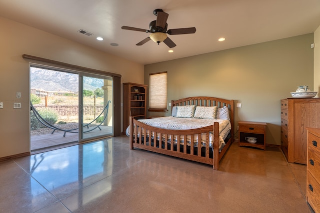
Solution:
[[[307,172],[306,174],[306,200],[314,210],[320,212],[320,185],[315,181],[312,175]]]

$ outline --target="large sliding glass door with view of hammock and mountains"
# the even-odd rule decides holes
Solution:
[[[30,150],[113,136],[113,78],[30,64]]]

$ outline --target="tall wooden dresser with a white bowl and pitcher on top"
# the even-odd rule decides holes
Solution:
[[[289,163],[306,164],[306,127],[320,128],[320,98],[281,100],[281,149]]]

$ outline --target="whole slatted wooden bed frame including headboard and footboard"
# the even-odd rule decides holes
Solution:
[[[214,97],[188,97],[179,99],[176,101],[171,101],[171,112],[173,106],[183,106],[183,105],[196,105],[196,106],[217,106],[217,107],[223,107],[226,106],[229,109],[229,117],[231,122],[231,130],[230,134],[228,136],[228,139],[225,140],[225,146],[219,152],[218,150],[218,142],[219,142],[219,123],[214,122],[211,126],[206,126],[202,128],[197,129],[189,129],[189,130],[170,130],[170,129],[161,129],[156,128],[152,126],[148,126],[146,124],[143,124],[135,119],[133,117],[130,117],[130,149],[139,148],[143,150],[148,150],[156,153],[161,153],[169,156],[179,157],[191,161],[196,161],[204,164],[210,164],[213,165],[214,170],[218,170],[219,168],[219,161],[222,159],[223,155],[225,154],[228,147],[233,142],[233,100],[226,100],[221,98],[214,98]],[[142,135],[143,137],[139,137],[138,132],[142,129]],[[212,153],[210,155],[209,150],[209,132],[213,131],[213,156]],[[164,138],[164,141],[162,139],[162,142],[159,143],[159,141],[154,141],[153,138],[151,138],[151,132],[154,132],[154,134],[159,134],[160,138]],[[206,140],[205,140],[205,148],[197,149],[197,147],[193,146],[193,135],[197,134],[198,138],[200,138],[201,134],[206,134]],[[168,143],[168,136],[177,136],[183,137],[184,141],[186,141],[186,136],[189,135],[191,137],[191,144],[190,146],[187,146],[186,143],[183,143],[183,145],[179,146],[171,146],[170,143]],[[172,143],[173,144],[173,143]],[[201,153],[202,151],[202,153]]]

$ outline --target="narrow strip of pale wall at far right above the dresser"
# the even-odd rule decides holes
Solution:
[[[314,91],[320,91],[320,26],[314,31]],[[317,94],[320,97],[320,94]]]

